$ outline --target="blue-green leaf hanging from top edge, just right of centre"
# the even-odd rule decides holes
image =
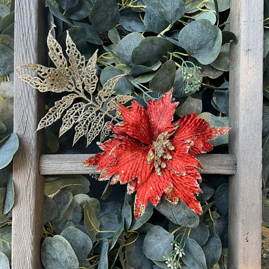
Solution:
[[[148,1],[148,0],[147,0]],[[150,32],[156,32],[159,34],[162,30],[166,29],[169,23],[161,17],[159,14],[155,1],[150,1],[152,3],[147,3],[147,1],[143,1],[146,3],[146,14],[143,18],[144,25]]]

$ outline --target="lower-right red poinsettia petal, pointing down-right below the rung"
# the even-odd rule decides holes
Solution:
[[[186,168],[186,175],[179,175],[168,170],[166,174],[170,174],[172,179],[172,191],[166,192],[165,197],[172,203],[179,197],[186,205],[195,210],[197,214],[203,214],[201,205],[197,201],[195,194],[201,192],[197,179],[201,179],[201,175],[195,168]],[[168,176],[167,176],[168,177]]]

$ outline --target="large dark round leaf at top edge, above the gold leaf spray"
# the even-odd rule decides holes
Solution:
[[[109,16],[108,16],[109,14]],[[116,0],[97,0],[90,10],[89,19],[92,28],[97,31],[108,31],[119,23],[119,8]]]

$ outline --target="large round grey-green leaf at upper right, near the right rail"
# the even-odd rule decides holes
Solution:
[[[219,55],[221,38],[221,30],[207,19],[192,21],[179,32],[180,46],[204,65]]]

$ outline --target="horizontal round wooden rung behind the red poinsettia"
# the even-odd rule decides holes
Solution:
[[[86,167],[82,162],[90,154],[63,154],[63,155],[41,155],[39,159],[40,175],[76,175],[97,174],[96,167]],[[203,170],[201,174],[235,175],[237,163],[235,155],[203,154],[198,155]]]

